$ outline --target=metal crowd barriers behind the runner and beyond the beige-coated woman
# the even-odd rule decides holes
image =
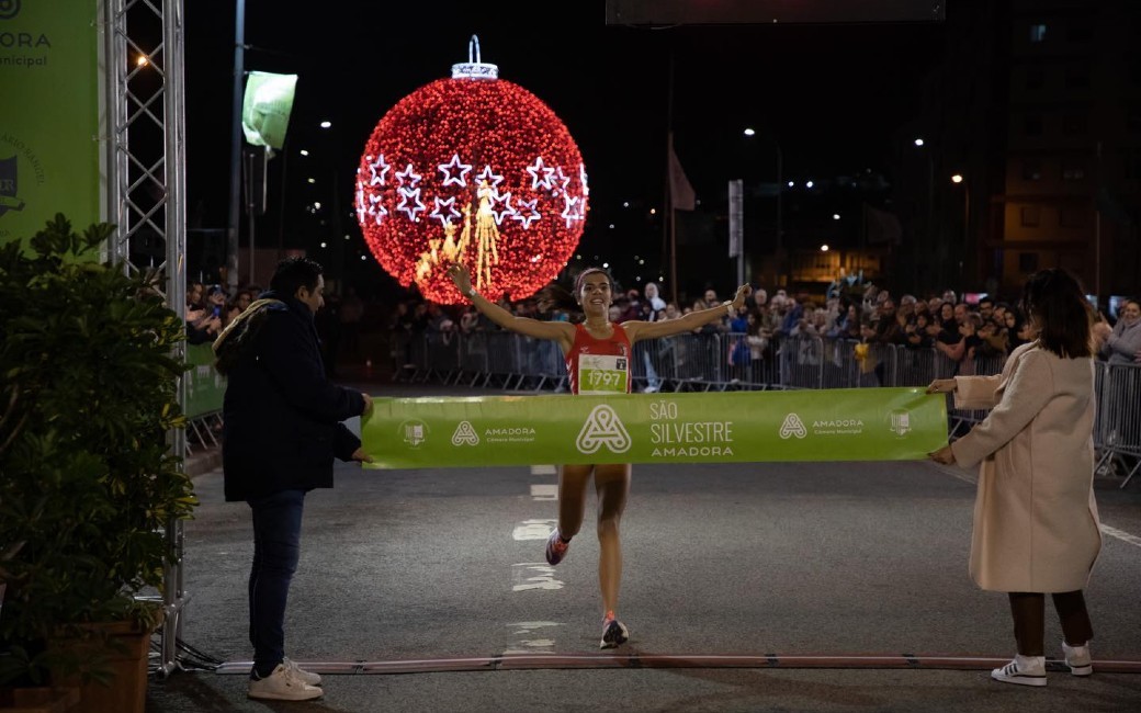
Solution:
[[[396,333],[395,381],[463,383],[508,391],[565,391],[566,367],[558,346],[513,332]],[[750,343],[736,332],[697,332],[634,345],[631,378],[636,391],[729,391],[922,387],[955,374],[993,375],[1005,357],[954,362],[933,348],[865,345],[819,337]],[[1098,472],[1125,475],[1141,469],[1141,364],[1097,363],[1094,448]],[[952,439],[987,415],[955,408],[948,395]]]

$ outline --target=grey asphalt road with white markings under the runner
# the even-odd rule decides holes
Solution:
[[[378,389],[370,389],[380,392]],[[386,387],[388,395],[438,388]],[[456,391],[459,392],[459,391]],[[589,527],[557,568],[552,468],[362,471],[307,500],[286,648],[318,702],[245,698],[248,508],[195,479],[186,671],[147,711],[1125,711],[1141,708],[1141,484],[1098,480],[1095,674],[1000,684],[1005,595],[966,572],[973,473],[929,462],[636,465],[621,618],[600,653]],[[1047,656],[1061,639],[1047,610]],[[195,663],[222,662],[217,671]]]

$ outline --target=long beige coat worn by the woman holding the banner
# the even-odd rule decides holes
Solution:
[[[956,376],[956,408],[992,408],[952,444],[981,462],[971,577],[998,592],[1085,589],[1101,551],[1093,497],[1093,360],[1022,345],[998,376]]]

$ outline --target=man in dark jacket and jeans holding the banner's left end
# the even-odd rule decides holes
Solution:
[[[228,376],[224,405],[226,500],[253,515],[249,696],[308,700],[321,676],[284,653],[285,601],[300,554],[305,495],[333,486],[333,457],[371,461],[342,421],[372,408],[367,394],[325,376],[314,315],[324,305],[322,267],[283,260],[269,291],[215,342]]]

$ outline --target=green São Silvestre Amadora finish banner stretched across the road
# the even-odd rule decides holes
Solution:
[[[947,444],[923,388],[382,398],[366,468],[903,461]]]

